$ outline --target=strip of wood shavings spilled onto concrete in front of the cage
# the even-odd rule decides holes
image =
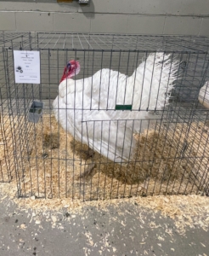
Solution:
[[[8,188],[5,189],[5,186]],[[133,205],[136,209],[144,209],[146,212],[153,212],[153,216],[160,212],[164,217],[172,218],[176,228],[180,234],[184,234],[187,227],[201,228],[208,230],[209,227],[209,197],[202,195],[155,195],[147,197],[133,197],[112,200],[99,201],[81,201],[71,199],[18,199],[15,194],[11,195],[11,183],[1,183],[0,191],[5,194],[8,191],[7,198],[5,195],[0,201],[13,201],[21,211],[31,211],[31,221],[34,220],[36,224],[40,224],[40,219],[45,216],[52,226],[61,228],[58,225],[60,216],[68,221],[76,217],[76,214],[84,216],[89,207],[95,207],[98,211],[109,211],[110,207],[114,207],[117,214],[123,216],[127,212],[123,209],[127,204]],[[140,210],[141,211],[141,210]],[[138,219],[143,221],[144,215],[138,215]],[[30,222],[31,222],[30,221]],[[125,224],[125,223],[123,223]],[[150,223],[151,229],[157,229],[159,226],[154,222]],[[167,228],[167,234],[172,236],[172,230]]]

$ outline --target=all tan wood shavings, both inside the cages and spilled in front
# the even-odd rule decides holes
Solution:
[[[17,119],[16,123],[18,124]],[[195,124],[192,124],[189,131],[195,131],[193,125]],[[207,129],[203,124],[199,124],[199,127],[204,130],[203,132]],[[185,136],[179,135],[179,131],[185,128],[184,124],[178,124],[180,130],[176,129],[174,133],[170,130],[169,136],[165,131],[153,130],[135,135],[138,138],[138,150],[135,155],[138,161],[136,165],[132,163],[128,166],[114,165],[97,153],[86,154],[88,147],[74,142],[70,135],[66,136],[65,131],[58,126],[53,117],[44,116],[42,123],[37,126],[31,125],[29,128],[27,137],[31,140],[28,141],[24,133],[18,130],[11,131],[13,134],[8,133],[10,136],[7,137],[2,134],[3,147],[0,148],[2,177],[5,179],[8,177],[7,164],[12,166],[15,163],[14,167],[24,166],[24,172],[21,168],[12,169],[10,183],[1,183],[2,201],[6,200],[5,196],[8,195],[8,198],[21,209],[31,209],[36,212],[34,216],[40,212],[56,212],[63,208],[71,213],[82,212],[84,207],[88,206],[105,210],[110,205],[119,207],[122,203],[129,202],[136,207],[144,207],[154,212],[160,211],[163,215],[173,218],[180,232],[184,232],[187,225],[191,227],[199,225],[205,230],[209,226],[207,197],[158,195],[160,192],[165,195],[197,192],[198,183],[194,182],[191,165],[188,164],[187,158],[182,157],[181,150],[175,145],[175,142],[179,141],[180,146],[184,146]],[[195,132],[187,133],[187,140],[193,139],[194,142],[189,144],[189,147],[193,145],[193,154],[203,156],[201,159],[206,161],[208,150],[205,133],[201,137],[197,137]],[[13,137],[18,135],[19,141],[13,142]],[[171,137],[174,137],[173,143]],[[202,137],[204,141],[201,141]],[[200,142],[201,147],[198,146]],[[204,151],[201,152],[201,148]],[[189,154],[188,150],[188,148],[184,150],[185,155]],[[20,154],[24,154],[24,158],[20,158]],[[14,156],[17,156],[16,161]],[[90,165],[93,161],[97,165],[93,176],[86,180],[80,179],[79,176],[84,172],[85,165]],[[18,199],[17,188],[21,189],[19,190],[21,195],[29,197]],[[46,199],[38,199],[44,195]],[[69,198],[66,198],[66,195]],[[123,198],[130,195],[133,197]],[[146,195],[146,197],[135,197],[135,195]],[[114,197],[119,199],[110,200]],[[86,201],[88,199],[98,199],[98,201]],[[37,219],[37,223],[38,221]]]

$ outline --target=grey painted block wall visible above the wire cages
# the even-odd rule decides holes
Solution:
[[[0,1],[0,30],[209,35],[209,0]]]

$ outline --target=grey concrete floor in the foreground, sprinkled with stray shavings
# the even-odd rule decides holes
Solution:
[[[130,203],[53,216],[21,211],[7,199],[0,204],[1,256],[209,256],[209,231],[197,227],[180,235],[171,218]]]

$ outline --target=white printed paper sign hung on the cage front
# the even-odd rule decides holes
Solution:
[[[40,84],[40,52],[14,50],[14,74],[17,84]]]

